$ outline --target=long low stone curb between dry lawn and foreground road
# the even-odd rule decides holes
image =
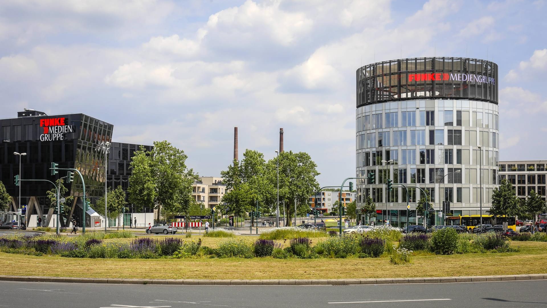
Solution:
[[[70,278],[40,276],[0,276],[0,281],[26,282],[79,282],[79,283],[117,283],[117,284],[184,284],[214,286],[317,286],[317,285],[354,285],[385,283],[452,283],[508,280],[547,279],[547,274],[498,275],[498,276],[461,276],[461,277],[422,277],[422,278],[366,278],[366,279],[322,279],[322,280],[201,280],[201,279],[123,279],[123,278]]]

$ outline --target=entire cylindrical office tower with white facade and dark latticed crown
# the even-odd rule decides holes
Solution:
[[[376,203],[375,224],[423,224],[420,187],[439,218],[487,214],[498,183],[498,66],[469,58],[414,58],[357,70],[357,207]],[[482,166],[482,168],[481,168]],[[482,169],[482,171],[481,171]],[[366,179],[375,174],[375,184]],[[482,178],[480,175],[482,174]],[[389,192],[386,181],[404,184]],[[409,221],[407,222],[407,214]],[[364,218],[363,218],[364,221]]]

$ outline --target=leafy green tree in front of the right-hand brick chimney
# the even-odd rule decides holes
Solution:
[[[277,157],[267,162],[269,179],[272,186],[277,185]],[[319,183],[316,180],[317,164],[312,161],[306,152],[282,152],[279,153],[279,194],[280,199],[287,203],[287,223],[290,225],[291,216],[294,215],[294,202],[298,208],[309,207],[308,199],[313,192],[319,190]],[[275,179],[275,182],[274,182]]]

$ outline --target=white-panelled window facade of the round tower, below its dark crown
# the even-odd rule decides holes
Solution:
[[[415,211],[420,189],[429,191],[436,212],[428,225],[443,224],[436,215],[443,201],[451,203],[452,214],[478,214],[481,183],[486,214],[499,178],[497,103],[406,98],[363,104],[360,99],[356,112],[357,206],[371,196],[376,203],[376,224],[389,220],[402,227],[407,221],[407,193],[399,185],[387,193],[387,179],[407,187],[410,224],[423,224]],[[366,181],[369,172],[376,174],[376,184]]]

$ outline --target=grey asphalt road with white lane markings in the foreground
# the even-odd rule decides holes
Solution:
[[[2,281],[0,307],[545,307],[546,285],[547,280],[366,286],[168,286]]]

